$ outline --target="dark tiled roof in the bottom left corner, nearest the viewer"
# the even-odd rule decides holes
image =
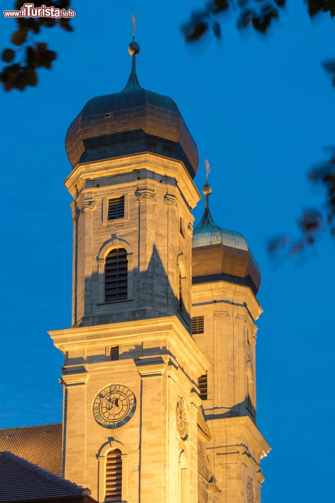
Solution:
[[[90,490],[12,454],[0,452],[0,501],[89,496]]]

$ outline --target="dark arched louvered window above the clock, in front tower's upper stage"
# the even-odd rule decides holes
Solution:
[[[114,248],[106,257],[104,270],[104,300],[127,299],[128,260],[125,248]]]

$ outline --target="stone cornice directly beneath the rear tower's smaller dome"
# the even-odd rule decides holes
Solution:
[[[225,280],[192,285],[193,307],[206,302],[211,303],[213,298],[216,300],[215,310],[227,310],[225,309],[227,303],[238,304],[242,308],[247,308],[254,320],[257,320],[263,312],[252,289],[248,286],[230,283]]]

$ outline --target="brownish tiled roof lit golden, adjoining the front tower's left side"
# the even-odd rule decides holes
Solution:
[[[62,424],[0,430],[1,451],[10,451],[60,476],[62,473]]]

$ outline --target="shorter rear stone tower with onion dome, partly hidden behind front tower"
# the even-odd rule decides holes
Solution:
[[[260,503],[260,461],[270,450],[256,427],[255,322],[262,313],[256,299],[261,273],[242,234],[214,223],[211,191],[206,180],[205,211],[192,241],[193,338],[211,362],[199,379],[211,436],[206,453],[217,501]]]

